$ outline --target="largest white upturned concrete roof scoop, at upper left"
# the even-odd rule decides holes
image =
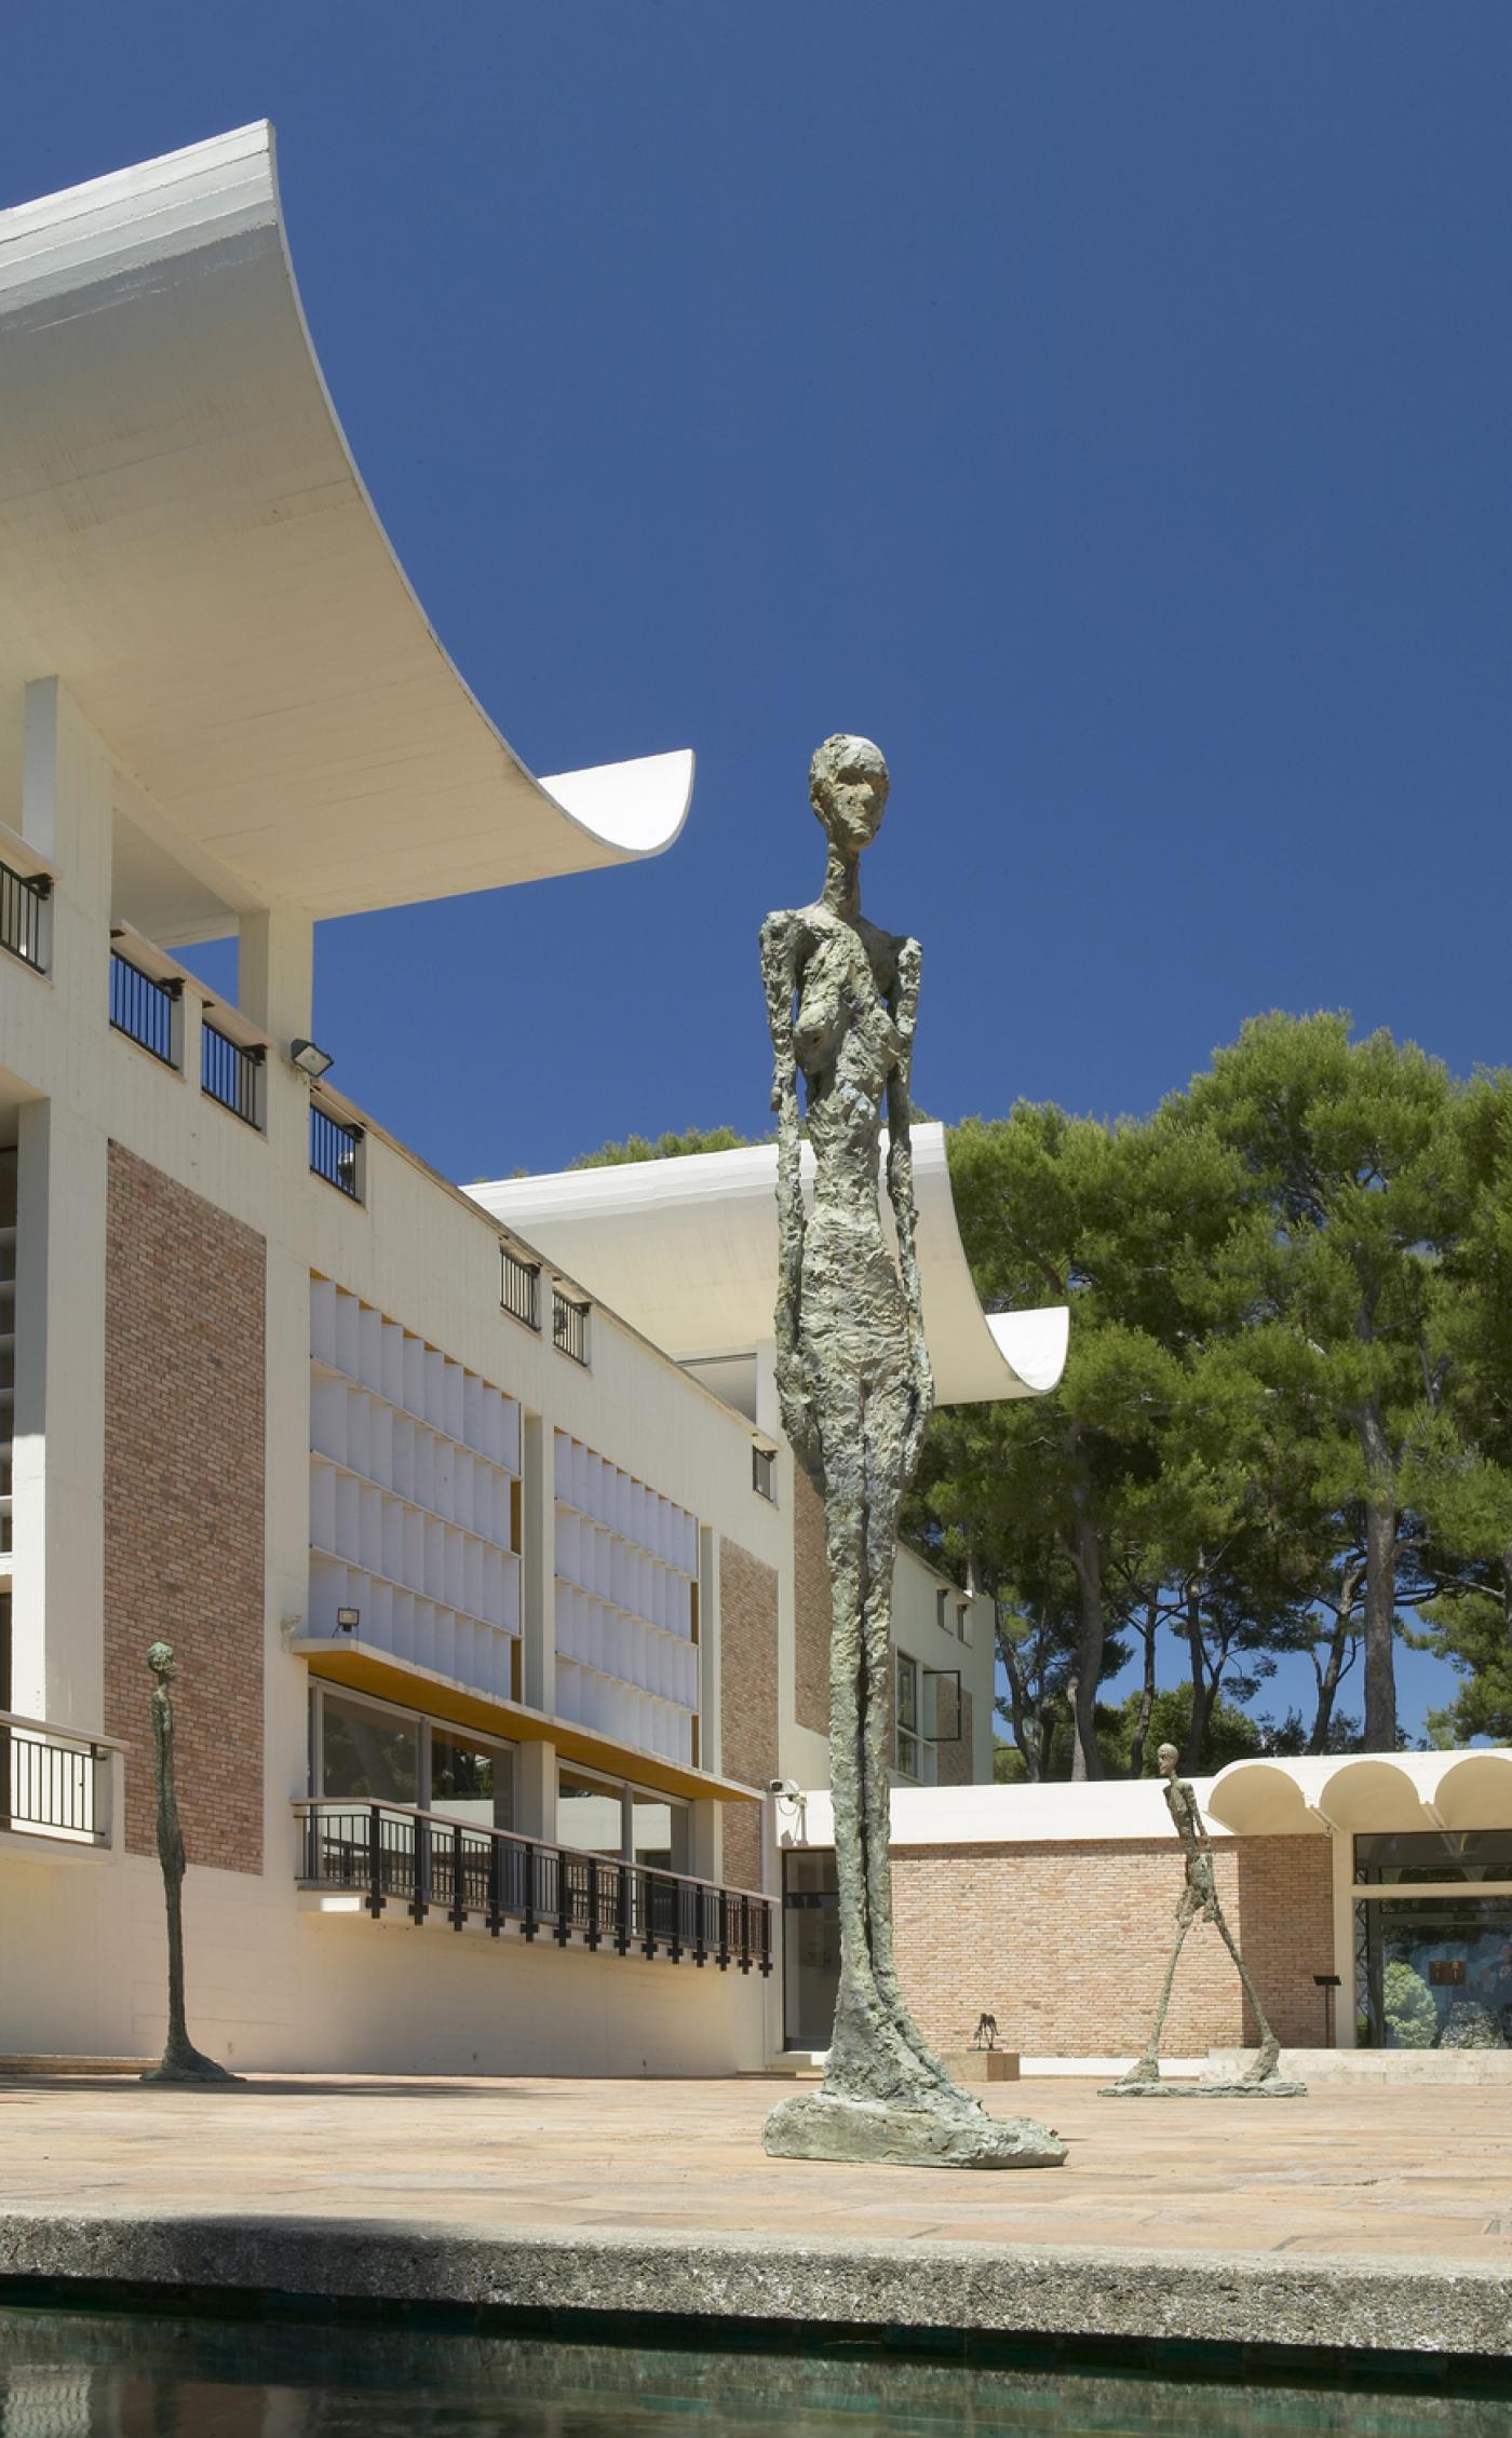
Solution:
[[[266,122],[0,212],[0,680],[63,678],[232,919],[622,863],[688,814],[690,753],[537,780],[441,649],[324,388]]]

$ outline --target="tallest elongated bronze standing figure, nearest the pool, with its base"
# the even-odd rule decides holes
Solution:
[[[878,748],[866,736],[829,736],[815,753],[810,802],[829,841],[824,890],[810,907],[768,914],[761,973],[778,1117],[778,1402],[795,1460],[824,1499],[829,1551],[841,1967],[824,2084],[773,2109],[766,2148],[780,2158],[1056,2167],[1066,2145],[1046,2126],[1002,2123],[951,2082],[910,2019],[893,1963],[893,1558],[934,1404],[910,1156],[919,944],[861,914],[861,851],[888,805]],[[815,1153],[807,1217],[800,1073]],[[897,1260],[878,1209],[883,1109]]]

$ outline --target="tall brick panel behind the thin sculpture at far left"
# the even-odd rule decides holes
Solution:
[[[110,1146],[105,1733],[156,1848],[146,1646],[173,1643],[190,1863],[263,1868],[263,1302],[254,1229]]]

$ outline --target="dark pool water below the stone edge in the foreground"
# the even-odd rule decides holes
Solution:
[[[0,2438],[1507,2438],[1510,2399],[0,2309]]]

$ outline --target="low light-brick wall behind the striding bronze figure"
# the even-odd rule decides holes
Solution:
[[[1317,2045],[1314,1972],[1334,1963],[1327,1838],[1214,1838],[1214,1880],[1280,2041]],[[956,1846],[893,1855],[897,1967],[924,2038],[963,2048],[978,2014],[1005,2048],[1117,2058],[1144,2048],[1175,1936],[1180,1850]],[[1239,1975],[1210,1924],[1180,1955],[1163,2053],[1253,2043]]]

